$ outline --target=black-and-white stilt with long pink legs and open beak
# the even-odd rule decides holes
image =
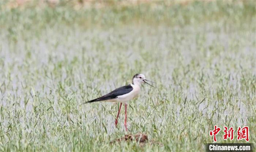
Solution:
[[[102,97],[84,102],[83,104],[97,102],[97,101],[120,102],[118,114],[116,116],[116,121],[115,121],[116,127],[118,125],[118,117],[119,117],[119,113],[121,111],[121,106],[122,106],[122,104],[125,104],[125,124],[124,125],[125,125],[125,130],[127,132],[128,131],[128,129],[127,129],[127,104],[128,104],[128,101],[130,101],[131,99],[134,99],[135,97],[138,96],[138,94],[140,94],[141,84],[145,83],[145,84],[148,84],[148,85],[154,87],[153,85],[149,84],[148,82],[152,82],[152,81],[147,80],[145,78],[144,74],[136,73],[132,78],[131,84],[125,85],[123,87],[119,87],[119,88],[115,89],[114,91],[111,91]],[[152,82],[152,83],[156,83],[156,82]]]

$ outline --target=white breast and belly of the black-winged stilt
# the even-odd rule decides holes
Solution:
[[[138,96],[138,94],[140,93],[140,86],[134,85],[134,84],[131,84],[131,86],[133,87],[133,90],[131,92],[129,92],[128,94],[118,96],[118,98],[117,98],[118,102],[126,103],[126,102],[130,101],[131,99]]]

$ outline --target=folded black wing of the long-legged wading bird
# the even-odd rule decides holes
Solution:
[[[83,104],[96,102],[96,101],[104,101],[104,100],[114,99],[114,98],[117,98],[118,96],[121,96],[123,94],[128,94],[132,90],[133,90],[133,87],[130,84],[125,85],[123,87],[117,88],[116,90],[114,90],[114,91],[112,91],[112,92],[110,92],[110,93],[108,93],[108,94],[106,94],[102,97],[99,97],[97,99],[93,99],[91,101],[84,102]]]

